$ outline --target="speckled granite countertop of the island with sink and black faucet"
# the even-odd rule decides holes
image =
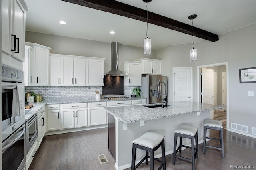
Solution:
[[[159,104],[149,104],[159,105]],[[105,107],[106,111],[117,117],[118,120],[124,123],[132,123],[138,121],[146,121],[153,119],[160,119],[164,117],[172,117],[178,115],[186,115],[189,113],[210,111],[214,109],[220,109],[222,105],[210,105],[196,102],[173,102],[168,103],[168,107],[156,107],[148,108],[144,105],[133,105],[133,106],[120,106],[120,107]]]

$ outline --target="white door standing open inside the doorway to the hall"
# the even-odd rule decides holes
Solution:
[[[213,70],[202,68],[202,103],[212,104],[214,98]],[[213,111],[210,111],[210,119],[213,119]]]

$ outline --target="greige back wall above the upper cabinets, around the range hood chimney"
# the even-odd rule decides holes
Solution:
[[[29,31],[26,31],[25,41],[51,47],[52,53],[56,54],[106,58],[105,72],[110,71],[111,42],[99,42]],[[118,67],[126,60],[136,61],[141,57],[146,57],[143,55],[143,48],[118,43]],[[156,59],[156,50],[152,50],[152,55],[146,58]]]

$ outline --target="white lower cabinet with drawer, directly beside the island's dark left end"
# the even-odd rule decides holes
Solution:
[[[89,126],[107,124],[106,102],[88,103]]]

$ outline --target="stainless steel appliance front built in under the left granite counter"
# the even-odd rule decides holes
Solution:
[[[38,136],[37,114],[26,122],[26,154],[36,141]]]

